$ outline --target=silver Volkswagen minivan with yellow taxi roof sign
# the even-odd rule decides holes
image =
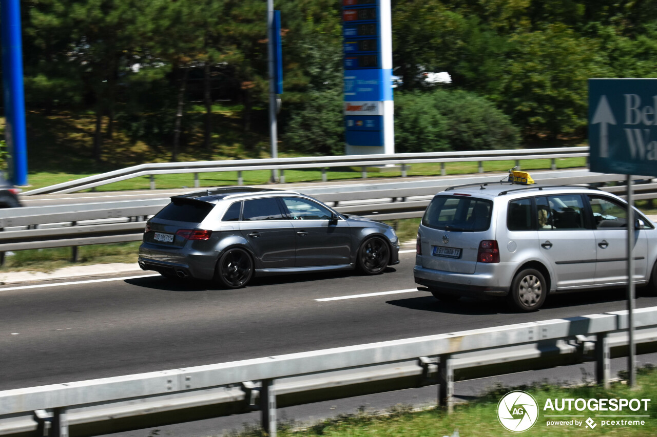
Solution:
[[[657,289],[657,229],[635,217],[633,280]],[[427,207],[415,282],[437,299],[505,296],[537,310],[549,293],[627,284],[627,203],[595,188],[507,182],[451,187]]]

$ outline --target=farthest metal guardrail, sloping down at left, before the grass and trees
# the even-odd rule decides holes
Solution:
[[[194,173],[194,187],[198,188],[198,173],[237,171],[237,184],[242,185],[242,172],[253,170],[281,171],[280,182],[285,182],[284,170],[321,169],[322,180],[327,181],[327,169],[336,167],[360,167],[363,178],[367,178],[367,167],[400,165],[402,177],[406,176],[407,166],[413,163],[441,163],[441,175],[445,175],[445,163],[472,161],[479,163],[479,173],[483,172],[484,161],[516,161],[523,159],[552,159],[552,169],[556,169],[555,159],[564,157],[587,157],[589,147],[543,148],[521,150],[484,150],[468,152],[433,152],[421,154],[392,155],[351,155],[328,157],[296,157],[283,159],[239,159],[227,161],[196,161],[183,163],[150,163],[135,165],[101,175],[95,175],[53,186],[38,188],[23,193],[23,196],[48,193],[72,193],[97,188],[102,185],[120,182],[136,177],[150,176],[150,188],[155,188],[154,175]]]

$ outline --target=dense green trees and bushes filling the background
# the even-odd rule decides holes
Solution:
[[[341,5],[276,1],[284,150],[344,149]],[[657,0],[392,0],[392,8],[400,152],[581,141],[587,78],[657,74]],[[203,157],[225,156],[228,144],[262,149],[265,23],[263,0],[23,1],[28,110],[93,114],[85,141],[97,161],[117,132],[168,159],[181,147]],[[422,80],[443,71],[453,83]],[[237,108],[233,119],[221,118],[217,101]]]

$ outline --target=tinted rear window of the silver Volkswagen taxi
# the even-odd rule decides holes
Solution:
[[[429,228],[463,232],[487,230],[493,203],[486,199],[436,196],[426,209],[422,224]]]

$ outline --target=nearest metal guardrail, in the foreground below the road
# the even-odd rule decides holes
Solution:
[[[657,307],[633,315],[637,340],[657,344]],[[439,403],[451,411],[457,369],[488,366],[500,375],[518,360],[529,369],[595,360],[597,382],[606,386],[612,346],[627,342],[627,319],[627,311],[592,314],[5,390],[0,435],[43,435],[48,424],[50,436],[91,436],[260,409],[263,428],[275,436],[277,407],[315,402],[322,390],[326,399],[352,396],[344,387],[358,385],[382,392],[438,382]]]

